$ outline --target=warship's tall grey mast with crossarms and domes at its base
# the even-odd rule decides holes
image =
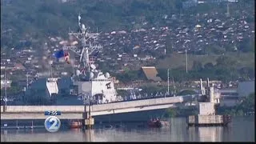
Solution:
[[[78,27],[79,29],[77,32],[69,30],[68,34],[70,37],[76,38],[80,46],[63,46],[63,50],[71,50],[74,52],[74,54],[79,55],[78,69],[74,69],[75,73],[71,78],[74,82],[74,85],[80,85],[78,84],[78,82],[81,81],[92,81],[93,78],[97,78],[98,74],[96,73],[96,71],[98,70],[95,70],[95,66],[90,65],[89,56],[91,54],[94,54],[94,52],[102,50],[102,46],[95,45],[95,39],[98,38],[99,33],[89,33],[89,28],[86,28],[86,26],[81,22],[81,14],[78,14]],[[91,41],[94,43],[93,45],[90,44]],[[90,85],[91,87],[93,87],[93,82],[91,82]],[[84,101],[89,101],[90,107],[90,101],[93,97],[92,88],[90,90],[90,93],[89,91],[83,90],[78,93],[82,95],[82,99]]]

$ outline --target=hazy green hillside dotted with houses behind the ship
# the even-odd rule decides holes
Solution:
[[[26,87],[27,81],[31,84],[37,78],[49,77],[51,70],[54,77],[74,74],[72,66],[54,61],[51,67],[48,60],[62,46],[78,45],[66,35],[79,10],[90,31],[101,32],[98,43],[103,49],[97,57],[90,57],[91,63],[109,71],[120,86],[159,85],[159,78],[160,85],[166,86],[167,69],[181,86],[202,77],[222,81],[226,86],[254,79],[251,0],[174,0],[167,4],[138,0],[98,0],[89,4],[75,0],[1,2],[1,79],[6,74],[14,86],[20,87],[18,90]],[[159,10],[150,7],[155,4]],[[27,9],[30,5],[34,6]],[[71,58],[76,59],[77,66],[78,58],[74,54]],[[142,66],[154,66],[157,73],[153,77],[158,80],[142,77]]]

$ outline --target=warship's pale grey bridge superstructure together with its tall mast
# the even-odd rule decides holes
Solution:
[[[78,97],[82,97],[85,103],[91,100],[96,103],[114,102],[117,93],[110,74],[103,74],[89,59],[90,55],[98,54],[102,50],[101,45],[95,44],[99,33],[89,33],[89,28],[81,23],[80,14],[78,26],[77,32],[70,30],[68,34],[77,38],[80,46],[63,46],[63,50],[71,50],[80,56],[78,69],[74,69],[74,75],[71,77]]]

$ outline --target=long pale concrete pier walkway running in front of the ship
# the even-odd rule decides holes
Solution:
[[[1,106],[1,120],[46,119],[44,112],[47,110],[61,111],[62,115],[58,116],[60,119],[88,119],[102,115],[134,113],[146,110],[164,110],[170,107],[176,107],[181,103],[191,102],[199,97],[200,95],[151,98],[92,106],[6,106],[5,112],[3,111],[3,106]]]

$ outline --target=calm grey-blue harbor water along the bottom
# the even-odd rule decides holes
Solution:
[[[234,117],[229,126],[187,127],[186,118],[170,118],[170,126],[148,128],[140,123],[98,124],[92,130],[44,128],[1,130],[1,142],[254,142],[254,116]]]

